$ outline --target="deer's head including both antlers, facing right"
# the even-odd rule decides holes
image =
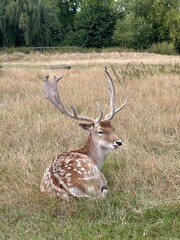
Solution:
[[[127,99],[122,104],[122,106],[115,108],[115,87],[110,73],[107,68],[104,69],[104,73],[109,80],[109,93],[110,93],[110,112],[106,115],[103,114],[102,107],[97,103],[99,110],[99,117],[96,119],[78,115],[76,109],[71,106],[71,111],[69,111],[61,101],[58,93],[57,84],[61,77],[54,76],[54,81],[51,83],[48,81],[49,76],[46,76],[44,80],[44,88],[46,97],[52,104],[60,110],[61,113],[67,115],[70,118],[76,119],[78,121],[83,121],[85,123],[79,123],[79,126],[90,132],[90,136],[94,143],[104,149],[116,149],[122,145],[122,141],[117,137],[114,132],[114,127],[111,125],[111,119],[116,113],[120,112],[127,104]]]

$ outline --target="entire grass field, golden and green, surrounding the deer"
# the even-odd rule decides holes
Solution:
[[[147,53],[1,54],[0,239],[180,239],[180,57]],[[68,64],[70,70],[45,69]],[[66,106],[108,111],[103,68],[112,73],[113,119],[123,146],[102,169],[106,199],[44,196],[39,184],[57,154],[84,144],[87,133],[45,98],[42,79],[63,75]]]

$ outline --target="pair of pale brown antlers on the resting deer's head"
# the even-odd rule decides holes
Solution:
[[[46,98],[56,108],[58,108],[62,114],[65,114],[66,116],[68,116],[70,118],[80,120],[80,121],[92,122],[92,123],[99,123],[102,120],[110,121],[117,112],[121,111],[126,106],[127,99],[121,107],[115,109],[115,87],[114,87],[114,83],[112,81],[112,77],[111,77],[110,73],[108,72],[107,68],[105,68],[104,72],[105,72],[105,74],[106,74],[106,76],[109,80],[109,92],[110,92],[110,113],[108,113],[104,117],[103,117],[103,111],[102,111],[101,105],[99,103],[97,103],[97,107],[98,107],[98,110],[100,112],[100,115],[97,119],[93,119],[93,118],[90,118],[90,117],[85,117],[85,116],[78,115],[76,109],[73,106],[70,107],[71,111],[69,111],[64,106],[64,104],[62,103],[61,98],[60,98],[59,93],[58,93],[58,88],[57,88],[57,84],[58,84],[59,80],[61,80],[63,78],[63,76],[61,76],[61,77],[54,76],[53,82],[48,81],[49,76],[45,77],[45,79],[44,79],[44,89],[45,89]]]

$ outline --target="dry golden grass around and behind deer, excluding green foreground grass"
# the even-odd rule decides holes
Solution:
[[[108,111],[103,67],[114,65],[177,64],[178,56],[137,53],[2,55],[10,64],[71,64],[71,70],[4,68],[0,72],[0,202],[33,204],[43,171],[58,153],[82,146],[87,134],[61,115],[43,96],[42,79],[64,75],[60,85],[67,106],[84,115],[98,114],[98,100]],[[86,68],[84,67],[86,65]],[[110,67],[109,67],[110,68]],[[111,68],[110,71],[112,72]],[[121,77],[121,76],[120,76]],[[112,153],[103,171],[111,194],[139,194],[150,201],[175,201],[180,196],[180,81],[178,74],[158,74],[117,80],[117,103],[129,97],[113,124],[122,148]],[[146,201],[144,200],[144,201]]]

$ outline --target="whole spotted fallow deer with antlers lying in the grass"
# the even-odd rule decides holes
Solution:
[[[115,109],[115,87],[106,68],[104,72],[109,80],[110,113],[103,116],[102,108],[97,104],[100,112],[97,119],[80,116],[73,107],[69,111],[63,105],[57,89],[58,81],[62,77],[54,76],[54,81],[51,83],[46,76],[44,80],[46,97],[61,113],[85,122],[80,123],[79,126],[89,131],[89,137],[83,148],[62,153],[50,163],[41,182],[42,192],[63,198],[106,195],[107,181],[101,173],[101,168],[109,150],[122,145],[110,120],[125,107],[127,99],[121,107]]]

